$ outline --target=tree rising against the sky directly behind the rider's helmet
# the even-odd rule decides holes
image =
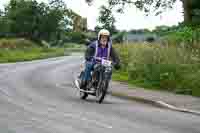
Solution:
[[[106,6],[101,6],[98,21],[102,26],[97,26],[97,29],[101,27],[109,30],[111,33],[116,32],[116,27],[114,25],[116,20],[110,8],[107,8]]]

